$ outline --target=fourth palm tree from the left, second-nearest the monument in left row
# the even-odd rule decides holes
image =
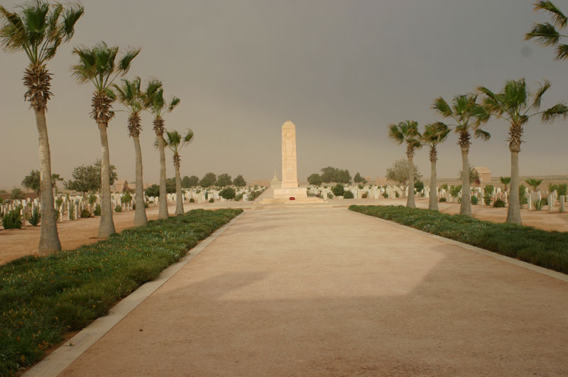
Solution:
[[[158,80],[148,82],[148,90],[144,93],[144,106],[154,116],[154,131],[158,138],[158,151],[160,152],[160,208],[158,209],[158,219],[168,219],[168,197],[165,189],[165,151],[164,151],[164,119],[165,112],[172,112],[178,106],[180,99],[172,97],[170,102],[164,99],[164,89]]]

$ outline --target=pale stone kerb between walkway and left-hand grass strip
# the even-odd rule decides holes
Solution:
[[[192,261],[195,256],[207,248],[209,244],[217,239],[229,226],[237,222],[243,215],[244,212],[214,231],[207,239],[204,239],[197,244],[197,246],[192,248],[180,261],[165,268],[160,275],[158,275],[158,278],[141,285],[133,293],[124,297],[124,299],[109,310],[108,315],[95,319],[91,324],[77,333],[75,337],[72,337],[68,342],[59,346],[58,349],[46,356],[45,359],[35,364],[35,366],[31,367],[26,373],[23,373],[23,376],[58,376],[67,366],[70,366],[75,359],[81,356],[84,351],[87,351],[87,349],[101,339],[104,334],[107,334],[121,319],[129,315],[143,300],[146,300],[148,296],[170,280],[175,273]],[[73,345],[70,346],[70,344]]]

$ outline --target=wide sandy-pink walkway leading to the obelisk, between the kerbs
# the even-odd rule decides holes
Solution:
[[[568,283],[344,208],[260,209],[63,376],[566,376]]]

